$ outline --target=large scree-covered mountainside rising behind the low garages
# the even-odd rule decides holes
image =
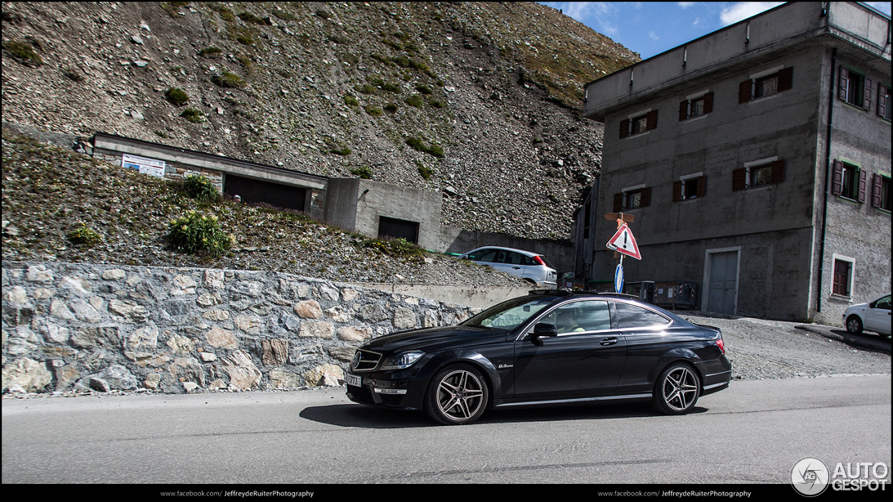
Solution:
[[[4,121],[371,176],[558,239],[601,157],[582,84],[638,61],[522,3],[10,2],[3,48]]]

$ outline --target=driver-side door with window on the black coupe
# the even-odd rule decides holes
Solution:
[[[574,317],[573,324],[563,322],[568,314]],[[536,339],[531,325],[515,342],[514,397],[584,397],[614,391],[626,342],[612,330],[606,300],[563,304],[537,322],[554,324],[558,335]]]

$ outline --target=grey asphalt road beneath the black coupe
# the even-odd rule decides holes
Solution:
[[[681,417],[591,406],[460,427],[356,405],[344,389],[2,404],[4,483],[789,486],[805,456],[891,466],[889,375],[732,381]]]

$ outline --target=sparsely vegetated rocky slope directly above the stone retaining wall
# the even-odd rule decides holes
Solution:
[[[29,131],[31,132],[31,131]],[[346,282],[523,286],[490,267],[365,238],[271,206],[214,203],[160,180],[3,130],[4,262],[190,266],[288,272]],[[171,222],[213,214],[231,246],[175,251]]]

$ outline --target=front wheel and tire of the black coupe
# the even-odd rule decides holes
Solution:
[[[473,423],[489,399],[484,376],[469,364],[452,364],[434,374],[425,394],[425,411],[445,425]]]

